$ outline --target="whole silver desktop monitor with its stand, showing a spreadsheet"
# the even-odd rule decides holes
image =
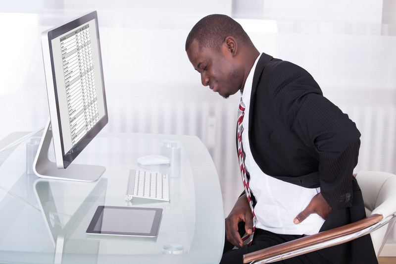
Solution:
[[[105,168],[72,161],[107,124],[98,14],[42,33],[49,121],[33,169],[39,177],[95,181]],[[53,142],[55,160],[48,158]]]

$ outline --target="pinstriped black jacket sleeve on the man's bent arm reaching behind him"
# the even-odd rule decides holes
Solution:
[[[360,147],[355,124],[323,97],[312,76],[301,67],[281,61],[269,76],[275,112],[317,155],[323,197],[333,209],[350,207],[352,173]]]

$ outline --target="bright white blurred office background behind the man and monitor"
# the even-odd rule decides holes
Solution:
[[[0,139],[45,125],[41,33],[92,10],[109,112],[104,131],[198,136],[217,168],[226,215],[242,192],[239,94],[226,100],[203,87],[185,53],[191,28],[212,13],[240,22],[260,52],[308,70],[349,115],[362,134],[355,172],[396,173],[396,0],[1,0]],[[388,244],[396,246],[395,231]]]

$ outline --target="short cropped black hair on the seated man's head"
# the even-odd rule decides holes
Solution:
[[[193,27],[186,40],[186,51],[196,39],[201,48],[220,49],[227,36],[232,36],[248,46],[251,40],[242,26],[227,15],[212,14],[205,16]]]

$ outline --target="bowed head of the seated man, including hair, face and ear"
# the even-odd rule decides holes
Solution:
[[[258,51],[242,26],[226,15],[209,15],[193,27],[186,52],[201,82],[228,98],[243,90]]]

